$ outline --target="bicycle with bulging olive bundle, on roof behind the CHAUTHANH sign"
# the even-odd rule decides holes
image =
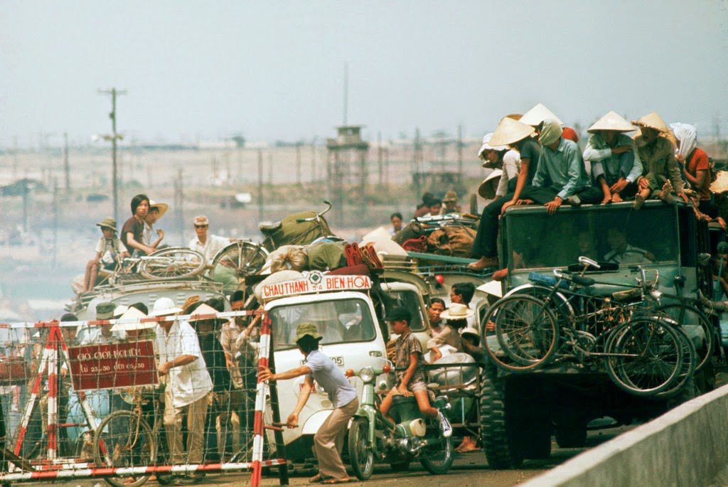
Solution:
[[[323,215],[331,210],[331,203],[324,203],[327,207],[323,211],[293,213],[277,223],[261,224],[263,242],[241,239],[222,248],[210,264],[213,274],[217,266],[223,266],[243,280],[260,272],[269,254],[281,245],[307,245],[320,237],[330,237],[331,229]]]

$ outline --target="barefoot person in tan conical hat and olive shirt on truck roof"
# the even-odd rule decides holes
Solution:
[[[640,128],[635,138],[637,155],[642,161],[642,175],[637,180],[639,191],[635,195],[635,209],[644,204],[645,199],[660,198],[667,203],[675,202],[672,191],[687,202],[684,183],[680,175],[675,146],[669,138],[668,128],[662,117],[653,111],[632,124]]]

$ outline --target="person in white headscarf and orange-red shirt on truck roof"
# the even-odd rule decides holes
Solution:
[[[697,209],[711,218],[718,216],[718,208],[711,203],[711,166],[708,154],[697,146],[697,130],[689,124],[670,124],[678,140],[676,159],[683,167],[685,179],[697,193]]]

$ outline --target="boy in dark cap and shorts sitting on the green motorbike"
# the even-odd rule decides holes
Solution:
[[[395,344],[397,349],[395,355],[397,387],[390,390],[387,397],[384,397],[379,411],[387,416],[389,408],[392,407],[392,397],[395,395],[405,397],[414,395],[419,411],[430,418],[437,418],[440,421],[440,430],[443,436],[450,437],[453,433],[450,421],[438,408],[433,408],[430,405],[430,397],[427,394],[427,385],[424,381],[424,372],[419,367],[419,364],[422,363],[422,344],[419,343],[419,340],[409,328],[412,315],[408,309],[397,307],[393,308],[384,320],[391,322],[392,332],[399,335]]]

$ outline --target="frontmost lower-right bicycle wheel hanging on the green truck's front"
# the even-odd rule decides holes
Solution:
[[[640,317],[613,333],[605,365],[617,387],[638,396],[654,396],[670,387],[683,359],[681,339],[670,324]]]

